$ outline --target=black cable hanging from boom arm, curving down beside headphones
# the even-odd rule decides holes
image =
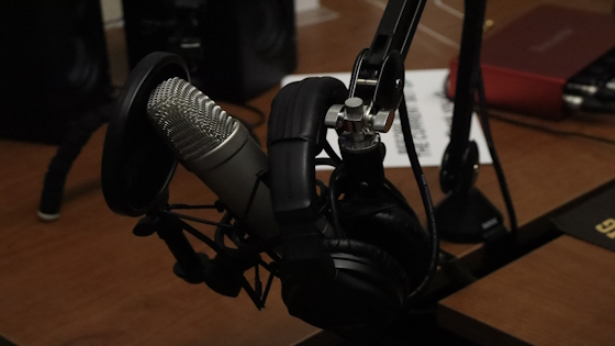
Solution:
[[[414,139],[412,138],[412,130],[410,127],[410,119],[407,116],[407,109],[405,104],[405,96],[402,96],[402,102],[400,103],[400,121],[402,125],[402,133],[404,137],[405,150],[412,166],[412,171],[416,183],[418,185],[418,190],[421,191],[421,198],[423,199],[423,207],[425,208],[425,213],[427,215],[427,230],[429,232],[429,242],[432,245],[432,260],[429,263],[429,268],[427,269],[427,275],[418,287],[409,295],[406,304],[412,301],[412,298],[432,281],[438,266],[439,258],[439,239],[436,231],[436,216],[434,214],[434,203],[432,201],[432,196],[429,194],[429,187],[427,186],[427,180],[418,163],[418,156],[416,155],[416,148],[414,147]]]

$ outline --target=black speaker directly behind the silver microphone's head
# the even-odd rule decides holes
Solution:
[[[293,0],[123,0],[128,60],[181,56],[192,83],[245,102],[297,67]]]

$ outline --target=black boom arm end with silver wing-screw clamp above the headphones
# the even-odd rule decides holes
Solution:
[[[404,60],[426,0],[390,0],[369,48],[353,68],[348,99],[327,111],[325,125],[336,129],[350,180],[360,186],[384,181],[384,145],[403,100]]]

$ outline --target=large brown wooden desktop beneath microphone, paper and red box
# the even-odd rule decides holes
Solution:
[[[321,2],[339,16],[299,29],[298,74],[348,71],[358,52],[371,43],[383,8],[379,0]],[[541,2],[547,1],[494,0],[488,18],[495,27],[503,26]],[[612,7],[606,0],[549,2],[603,12]],[[447,1],[447,5],[461,10],[462,1]],[[443,1],[428,2],[406,68],[448,66],[458,52],[461,27],[461,20],[451,13]],[[122,52],[120,38],[110,37],[112,54]],[[125,70],[115,69],[113,78],[122,82]],[[277,91],[251,104],[268,113]],[[249,120],[250,114],[242,110],[230,111]],[[593,135],[613,137],[615,133],[615,118],[573,116],[561,123],[524,120]],[[258,312],[244,293],[238,299],[223,298],[176,278],[164,243],[156,237],[136,238],[131,234],[136,220],[114,215],[104,203],[100,188],[104,131],[93,134],[75,163],[62,217],[54,223],[40,222],[36,210],[55,147],[0,141],[0,335],[20,346],[234,346],[290,345],[317,332],[288,315],[277,281],[267,308]],[[265,131],[261,126],[256,132],[264,138]],[[615,146],[497,121],[492,131],[524,232],[526,225],[615,177]],[[443,198],[438,170],[426,168],[425,174],[437,202]],[[327,172],[318,175],[326,178]],[[390,169],[387,175],[423,217],[410,170]],[[504,210],[491,166],[481,170],[478,187]],[[170,191],[172,202],[214,201],[209,189],[181,168]],[[529,231],[524,234],[532,236]],[[443,247],[468,261],[480,261],[480,244],[443,243]]]

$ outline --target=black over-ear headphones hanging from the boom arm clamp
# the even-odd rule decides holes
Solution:
[[[273,99],[267,133],[282,299],[291,315],[329,331],[385,326],[433,265],[428,233],[392,185],[345,190],[343,167],[328,188],[317,182],[325,114],[347,97],[331,77],[290,83]]]

